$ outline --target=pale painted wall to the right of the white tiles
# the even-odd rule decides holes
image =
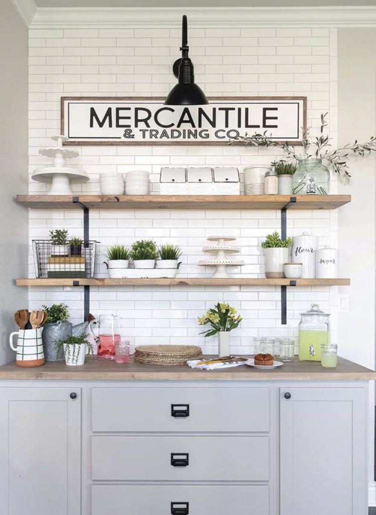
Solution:
[[[376,29],[338,30],[338,143],[365,140],[376,133]],[[375,158],[351,158],[353,178],[338,193],[352,202],[338,215],[341,273],[351,287],[349,313],[338,314],[341,355],[374,368],[375,364]],[[341,289],[341,288],[340,288]],[[370,396],[369,439],[373,446],[373,404]],[[373,482],[373,453],[369,454]]]

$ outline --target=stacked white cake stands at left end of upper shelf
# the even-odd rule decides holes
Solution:
[[[75,158],[79,155],[75,150],[63,148],[65,136],[52,136],[57,141],[56,147],[41,148],[39,153],[42,156],[53,158],[53,166],[43,166],[33,171],[31,178],[37,182],[51,181],[48,195],[71,195],[69,179],[71,181],[87,182],[89,180],[85,171],[80,168],[65,166],[65,159]]]

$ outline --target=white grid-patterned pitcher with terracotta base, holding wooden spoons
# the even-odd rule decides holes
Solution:
[[[15,351],[15,364],[19,367],[39,367],[44,365],[42,342],[43,327],[38,329],[20,329],[9,336],[10,348]],[[13,336],[17,335],[17,346],[13,345]]]

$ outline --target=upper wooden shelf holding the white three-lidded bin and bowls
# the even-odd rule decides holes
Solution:
[[[291,195],[79,195],[90,209],[282,209]],[[290,209],[337,209],[351,195],[294,195]],[[17,195],[33,209],[78,209],[71,195]]]

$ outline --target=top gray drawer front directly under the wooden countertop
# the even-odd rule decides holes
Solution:
[[[177,416],[180,408],[186,413]],[[267,432],[269,389],[93,388],[92,427],[94,432]]]

